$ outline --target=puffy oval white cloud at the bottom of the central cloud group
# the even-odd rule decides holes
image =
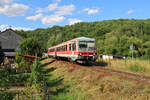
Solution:
[[[42,23],[45,25],[54,25],[57,23],[60,23],[64,21],[64,16],[58,16],[58,15],[51,15],[51,16],[45,16],[41,19]]]

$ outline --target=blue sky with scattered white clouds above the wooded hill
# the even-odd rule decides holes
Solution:
[[[0,30],[112,19],[149,19],[150,0],[0,0]]]

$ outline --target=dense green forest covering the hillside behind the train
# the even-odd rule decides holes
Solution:
[[[74,25],[38,28],[33,31],[16,31],[25,39],[36,38],[42,44],[42,52],[48,47],[76,37],[91,37],[97,41],[99,54],[149,58],[150,55],[150,19],[118,19],[96,22],[81,22]]]

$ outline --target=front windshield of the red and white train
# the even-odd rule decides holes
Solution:
[[[95,41],[80,41],[79,42],[80,52],[96,52]]]

